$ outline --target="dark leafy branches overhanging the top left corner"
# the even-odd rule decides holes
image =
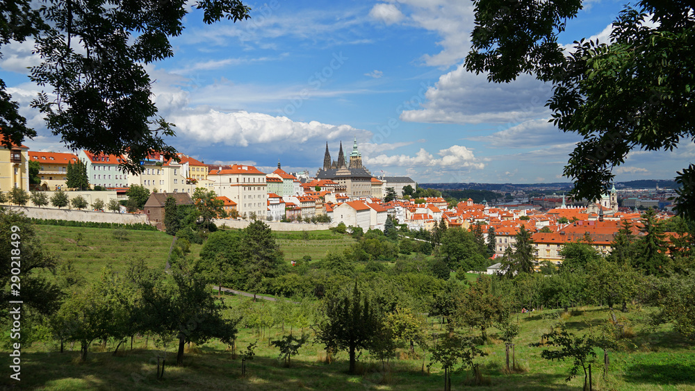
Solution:
[[[195,7],[206,24],[237,22],[250,12],[240,0],[198,0]],[[128,153],[121,167],[138,173],[149,153],[178,159],[165,141],[174,124],[157,114],[145,65],[173,56],[170,38],[181,34],[187,13],[184,0],[3,1],[0,49],[33,38],[42,63],[30,78],[49,92],[32,106],[48,128],[72,150]],[[6,147],[36,135],[2,80],[0,135]]]

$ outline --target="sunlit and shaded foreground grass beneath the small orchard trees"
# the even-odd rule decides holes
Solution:
[[[227,297],[226,301],[236,308],[242,308],[243,300]],[[247,303],[248,305],[248,303]],[[258,310],[272,310],[272,303],[254,304]],[[234,310],[230,310],[234,311]],[[626,343],[627,351],[610,353],[611,365],[605,378],[603,371],[603,352],[597,351],[594,364],[595,390],[694,390],[695,389],[695,351],[669,326],[647,335],[639,319],[644,311],[628,313],[626,321],[630,324],[632,338]],[[498,331],[491,329],[491,344],[481,346],[488,356],[477,358],[486,385],[478,390],[580,390],[583,377],[566,382],[569,363],[550,362],[541,358],[542,347],[529,347],[539,342],[541,334],[550,331],[557,320],[566,322],[569,331],[586,333],[607,319],[603,308],[578,308],[571,313],[561,310],[535,311],[519,315],[521,334],[516,340],[516,362],[522,373],[505,374],[505,344],[498,340]],[[430,319],[435,333],[444,328]],[[284,333],[288,333],[286,326]],[[298,330],[295,328],[295,333]],[[434,390],[441,388],[443,380],[441,368],[437,365],[431,371],[423,372],[422,351],[416,348],[416,355],[409,356],[406,350],[399,349],[396,358],[391,360],[389,369],[384,371],[382,363],[365,352],[359,358],[361,375],[348,375],[347,355],[341,352],[336,360],[324,362],[325,351],[318,344],[308,344],[300,349],[300,354],[292,358],[292,365],[284,367],[277,360],[278,351],[268,346],[268,339],[284,334],[278,324],[259,335],[250,328],[240,329],[236,349],[245,349],[250,342],[257,342],[256,358],[247,365],[247,376],[241,376],[240,358],[234,357],[227,346],[211,342],[189,349],[182,367],[167,367],[165,379],[157,381],[155,376],[156,356],[163,351],[156,349],[149,340],[136,338],[132,351],[114,356],[115,344],[110,343],[107,351],[95,347],[90,351],[88,362],[80,365],[77,344],[74,351],[67,347],[65,353],[57,352],[57,347],[37,344],[23,351],[22,386],[27,390]],[[167,360],[175,360],[175,347],[170,347]],[[429,356],[424,357],[429,363]],[[430,372],[430,373],[428,373]],[[455,372],[452,388],[464,388],[468,372]],[[4,382],[4,383],[3,383]],[[6,384],[5,377],[0,384]]]

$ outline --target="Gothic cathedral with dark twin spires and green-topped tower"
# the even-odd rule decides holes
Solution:
[[[331,179],[347,189],[350,197],[370,197],[372,193],[372,174],[362,165],[362,155],[357,150],[357,138],[352,142],[352,152],[349,161],[345,161],[343,142],[338,151],[338,160],[331,159],[331,153],[326,143],[323,156],[323,167],[316,173],[317,179]]]

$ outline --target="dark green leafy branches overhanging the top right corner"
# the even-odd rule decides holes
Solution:
[[[557,42],[581,0],[476,0],[466,69],[508,83],[553,84],[552,122],[583,136],[564,175],[575,198],[596,199],[632,149],[673,151],[695,138],[695,18],[689,1],[641,0],[613,22],[610,42]],[[678,172],[678,213],[695,217],[695,165]]]

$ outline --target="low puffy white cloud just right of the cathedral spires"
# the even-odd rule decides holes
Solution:
[[[448,167],[455,169],[457,167],[466,167],[472,169],[483,169],[484,163],[475,158],[473,151],[461,145],[452,145],[447,149],[440,149],[437,153],[440,157],[432,155],[432,153],[420,148],[415,156],[409,155],[393,155],[386,156],[381,154],[374,158],[366,158],[366,165],[373,167],[381,166],[423,166],[423,167]]]

